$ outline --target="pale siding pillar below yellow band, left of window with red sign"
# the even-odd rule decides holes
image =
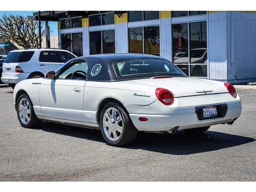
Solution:
[[[172,34],[171,17],[160,18],[160,56],[171,61]]]

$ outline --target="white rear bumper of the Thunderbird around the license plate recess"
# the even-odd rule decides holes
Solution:
[[[171,114],[130,114],[130,118],[139,131],[167,131],[174,127],[179,127],[178,130],[182,130],[213,126],[228,123],[241,116],[242,105],[240,100],[228,102],[227,104],[228,111],[225,117],[218,119],[199,121],[194,110],[195,106],[186,107],[186,110],[180,108],[180,110]],[[139,117],[146,117],[148,121],[139,121]]]

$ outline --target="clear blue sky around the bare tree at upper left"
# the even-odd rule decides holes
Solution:
[[[0,18],[2,18],[2,16],[4,14],[6,15],[10,15],[10,14],[16,14],[16,15],[22,15],[22,16],[33,16],[33,13],[37,12],[37,11],[0,11]],[[49,26],[50,26],[50,30],[53,30],[53,32],[51,32],[51,35],[58,35],[58,23],[54,22],[54,21],[49,21],[48,22]]]

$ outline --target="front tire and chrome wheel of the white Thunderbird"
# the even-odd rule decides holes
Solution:
[[[34,113],[33,104],[26,93],[18,98],[16,111],[22,127],[31,128],[40,125],[41,120]]]

